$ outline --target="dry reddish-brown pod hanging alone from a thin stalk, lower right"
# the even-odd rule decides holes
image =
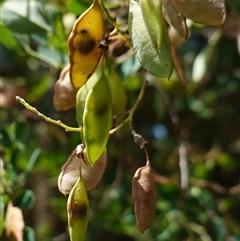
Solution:
[[[143,233],[152,223],[156,208],[156,189],[150,163],[138,168],[132,179],[132,197],[139,230]]]

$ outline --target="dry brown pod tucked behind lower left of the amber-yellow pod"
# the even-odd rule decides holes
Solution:
[[[57,111],[66,111],[76,105],[77,90],[72,86],[69,77],[69,65],[60,73],[54,86],[53,105]]]

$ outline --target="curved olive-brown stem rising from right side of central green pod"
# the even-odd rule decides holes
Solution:
[[[110,130],[109,131],[110,135],[112,135],[112,134],[116,133],[117,131],[119,131],[127,122],[130,123],[130,127],[132,126],[133,115],[134,115],[134,113],[135,113],[139,103],[141,102],[141,100],[143,98],[146,85],[147,85],[147,79],[144,78],[141,90],[140,90],[139,95],[138,95],[138,98],[137,98],[136,102],[134,103],[133,107],[131,108],[128,117],[124,121],[122,121],[121,124],[119,124],[118,126],[113,128],[112,130]]]

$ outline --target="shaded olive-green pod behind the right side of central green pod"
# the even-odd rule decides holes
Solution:
[[[114,68],[111,69],[108,76],[108,83],[112,97],[112,115],[116,116],[116,124],[118,124],[123,119],[126,111],[127,95],[122,80]]]

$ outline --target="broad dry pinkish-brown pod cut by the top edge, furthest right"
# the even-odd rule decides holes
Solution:
[[[226,18],[224,0],[168,0],[177,12],[195,22],[222,25]]]

